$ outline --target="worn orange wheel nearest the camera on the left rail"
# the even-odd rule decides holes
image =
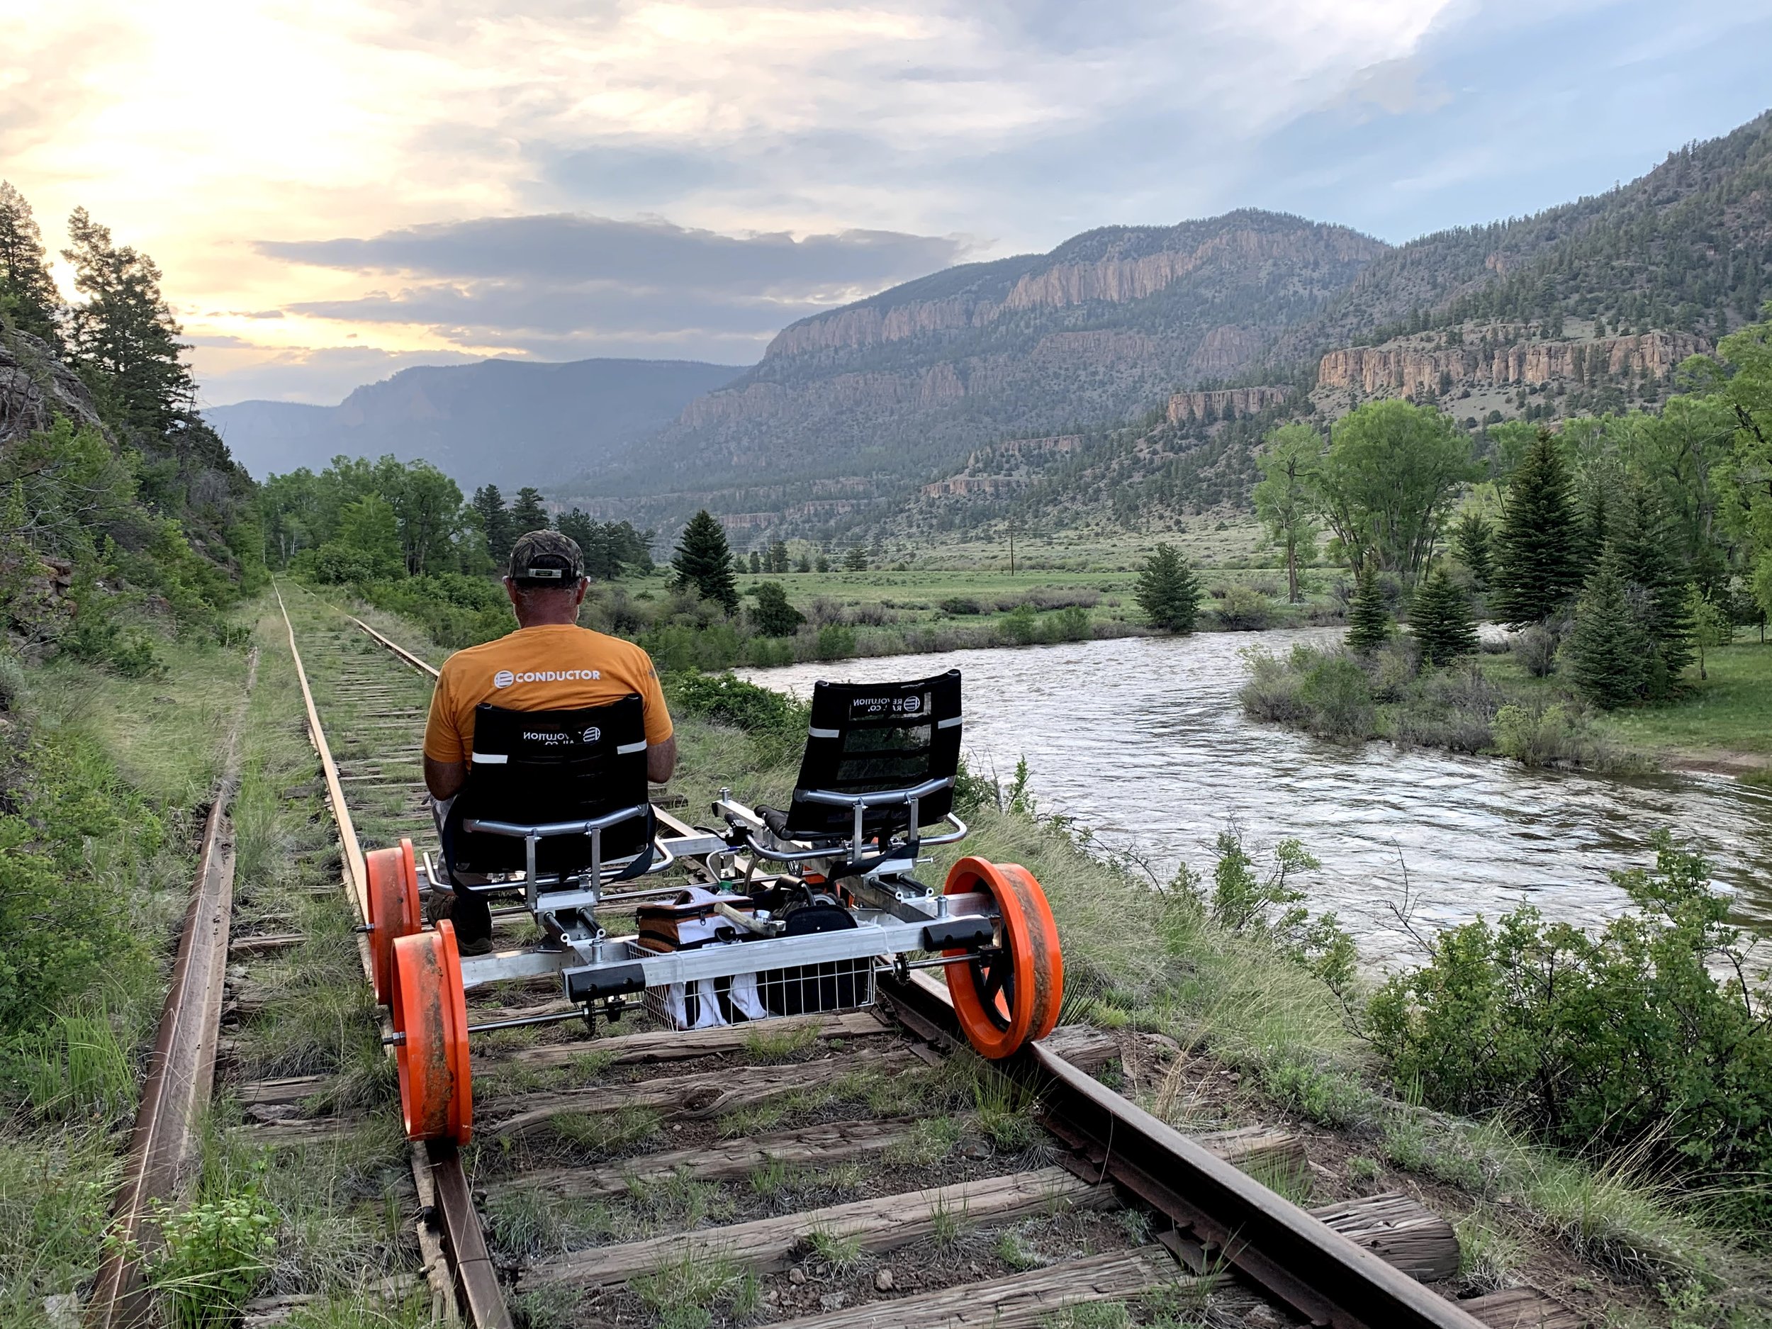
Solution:
[[[468,1076],[468,1001],[461,989],[455,925],[393,943],[393,1028],[400,1033],[400,1115],[408,1139],[468,1143],[473,1083]]]

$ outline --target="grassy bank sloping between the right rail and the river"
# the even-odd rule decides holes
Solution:
[[[774,732],[771,707],[755,709],[751,730],[696,714],[688,698],[677,711],[684,764],[672,787],[691,804],[716,785],[748,799],[792,789],[799,734]],[[1370,989],[1334,982],[1295,950],[1283,904],[1221,907],[1219,882],[1235,875],[1223,852],[1152,877],[1042,815],[1026,790],[1017,799],[980,780],[968,792],[973,835],[927,879],[960,852],[1040,879],[1065,944],[1067,1019],[1116,1031],[1122,1093],[1189,1132],[1260,1123],[1302,1138],[1306,1162],[1262,1178],[1301,1203],[1423,1196],[1457,1226],[1465,1294],[1531,1283],[1597,1322],[1751,1322],[1742,1308],[1767,1294],[1763,1271],[1733,1246],[1738,1233],[1708,1226],[1676,1189],[1623,1162],[1582,1166],[1499,1118],[1425,1111],[1400,1090],[1368,1042]],[[1269,856],[1251,851],[1244,881],[1271,882]]]

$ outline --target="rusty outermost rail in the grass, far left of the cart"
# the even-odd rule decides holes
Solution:
[[[227,808],[239,785],[239,732],[257,675],[259,652],[253,649],[241,711],[229,730],[222,778],[204,820],[191,902],[179,932],[172,983],[142,1086],[142,1106],[129,1132],[124,1182],[112,1214],[117,1246],[99,1265],[85,1317],[96,1329],[122,1329],[152,1320],[154,1308],[142,1265],[131,1256],[144,1244],[152,1201],[170,1200],[177,1193],[181,1173],[191,1157],[191,1127],[214,1092],[229,923],[234,913],[234,838]]]

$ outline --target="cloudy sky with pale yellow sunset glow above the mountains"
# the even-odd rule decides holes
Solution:
[[[1100,225],[1400,243],[1772,105],[1765,0],[0,0],[0,177],[51,250],[85,206],[159,264],[206,404],[746,365]]]

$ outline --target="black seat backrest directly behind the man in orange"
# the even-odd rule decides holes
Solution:
[[[473,712],[473,762],[445,826],[445,858],[455,872],[521,872],[523,840],[470,833],[462,822],[519,826],[574,822],[617,808],[647,806],[647,817],[602,833],[602,861],[633,858],[652,842],[647,730],[640,696],[574,711],[507,711],[482,702]],[[537,872],[571,875],[590,867],[590,836],[549,836]]]

